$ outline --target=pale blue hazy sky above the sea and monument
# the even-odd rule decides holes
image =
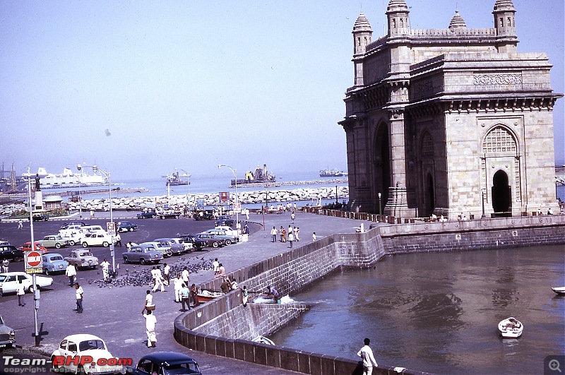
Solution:
[[[495,0],[407,0],[412,28],[492,28]],[[564,1],[513,0],[519,52],[547,52],[564,93]],[[0,162],[112,180],[266,163],[276,174],[346,168],[343,97],[363,10],[388,0],[0,1]],[[564,100],[554,109],[565,164]]]

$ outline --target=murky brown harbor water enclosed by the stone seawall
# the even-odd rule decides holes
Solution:
[[[379,364],[436,374],[543,374],[565,353],[565,297],[551,290],[564,267],[564,246],[391,256],[293,295],[313,308],[269,338],[358,359],[367,337]],[[517,340],[499,337],[509,316]]]

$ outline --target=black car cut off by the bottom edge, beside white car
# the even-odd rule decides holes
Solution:
[[[135,375],[202,375],[198,363],[188,355],[177,352],[156,352],[144,355],[133,369]]]

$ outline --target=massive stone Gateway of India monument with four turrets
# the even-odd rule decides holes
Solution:
[[[545,53],[518,53],[512,1],[496,0],[494,28],[468,28],[456,11],[447,28],[414,30],[409,13],[390,0],[377,40],[363,13],[353,27],[355,84],[339,122],[351,210],[559,213],[553,106],[563,95],[552,92]]]

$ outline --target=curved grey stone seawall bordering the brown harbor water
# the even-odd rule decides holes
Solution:
[[[322,212],[327,210],[319,210]],[[246,285],[248,290],[265,290],[274,285],[282,294],[293,294],[335,268],[368,267],[388,254],[509,249],[534,244],[565,244],[565,215],[383,225],[359,234],[333,234],[236,270],[230,276],[244,280],[239,285]],[[218,290],[220,280],[201,287]],[[234,291],[178,316],[174,321],[175,339],[194,350],[303,374],[359,371],[358,362],[352,359],[249,341],[254,335],[277,331],[308,306],[248,304],[244,308],[241,303],[241,292]],[[250,321],[253,323],[249,324]],[[261,328],[254,331],[251,326]],[[267,328],[270,329],[266,331]],[[407,369],[402,372],[424,374]],[[397,371],[379,366],[374,374]]]

